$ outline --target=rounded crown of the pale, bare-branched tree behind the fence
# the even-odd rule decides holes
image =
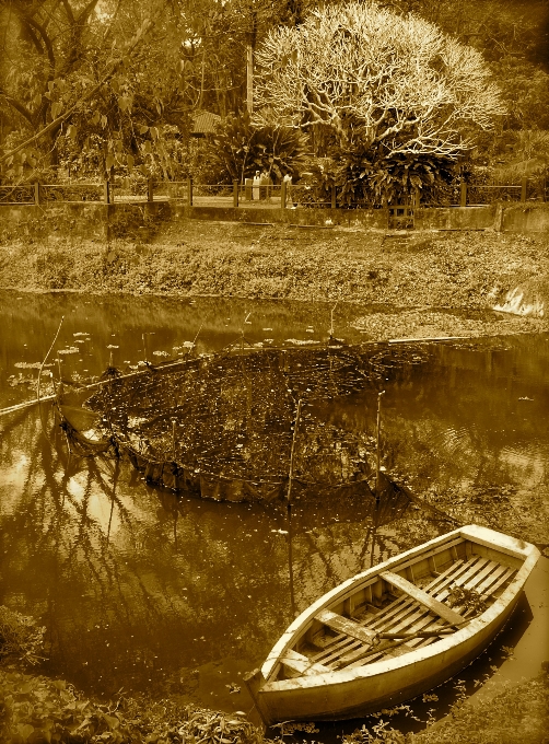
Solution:
[[[273,30],[256,61],[258,121],[319,128],[340,151],[376,162],[456,161],[504,112],[478,51],[373,2],[329,5]]]

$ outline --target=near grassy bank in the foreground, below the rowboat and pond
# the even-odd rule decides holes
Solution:
[[[265,739],[244,713],[148,698],[91,700],[65,679],[0,667],[0,735],[7,744],[296,744],[300,731]],[[509,687],[472,707],[460,700],[442,721],[417,734],[402,734],[379,718],[342,744],[545,744],[549,730],[547,675]],[[302,726],[300,726],[301,729]],[[307,740],[308,741],[308,740]],[[318,743],[322,744],[322,743]]]

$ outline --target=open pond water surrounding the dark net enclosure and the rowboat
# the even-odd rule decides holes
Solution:
[[[364,312],[338,306],[336,334],[360,341],[351,324]],[[254,344],[277,345],[325,340],[330,327],[324,304],[4,292],[0,408],[35,397],[31,365],[61,316],[52,356],[65,377],[100,374],[110,354],[120,368],[161,360],[197,333],[198,350],[210,352],[241,328]],[[320,414],[373,433],[375,405],[363,392],[323,404]],[[439,495],[443,511],[478,515],[544,547],[548,409],[549,336],[433,344],[428,363],[386,382],[384,463],[418,496]],[[171,695],[254,720],[242,676],[295,613],[373,562],[453,528],[417,505],[402,513],[385,504],[376,516],[367,500],[357,509],[329,499],[299,505],[289,523],[276,504],[176,497],[149,487],[128,463],[69,458],[47,405],[0,418],[0,602],[47,627],[45,673],[98,696]],[[471,690],[501,666],[506,647],[532,641],[533,617],[527,597],[464,673]],[[528,653],[515,670],[532,676],[547,653],[534,662]],[[439,702],[414,701],[417,718],[428,708],[444,714],[453,684],[437,695]],[[361,723],[299,737],[336,741]],[[422,726],[402,714],[394,724]]]

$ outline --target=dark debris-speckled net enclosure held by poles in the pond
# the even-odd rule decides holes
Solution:
[[[125,455],[153,486],[218,501],[279,500],[294,451],[293,498],[360,500],[372,496],[374,439],[330,421],[327,405],[352,393],[375,395],[428,356],[388,344],[241,344],[128,374],[112,368],[92,391],[65,391],[58,409],[70,449]],[[85,429],[74,395],[96,417]]]

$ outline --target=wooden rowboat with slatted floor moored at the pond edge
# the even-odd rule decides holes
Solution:
[[[248,675],[265,723],[357,718],[448,679],[501,630],[538,557],[468,525],[336,586]]]

